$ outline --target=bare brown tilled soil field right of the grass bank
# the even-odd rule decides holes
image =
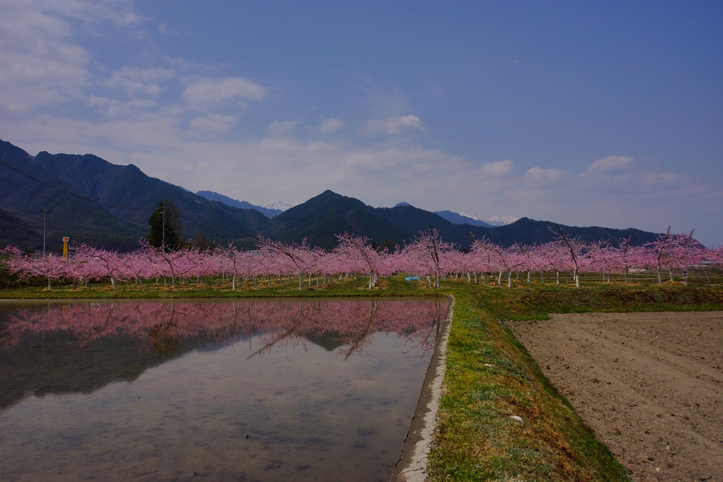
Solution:
[[[509,326],[633,481],[723,481],[723,311]]]

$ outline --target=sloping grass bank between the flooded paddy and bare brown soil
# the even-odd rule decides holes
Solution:
[[[434,481],[629,480],[523,346],[461,291],[429,472]]]

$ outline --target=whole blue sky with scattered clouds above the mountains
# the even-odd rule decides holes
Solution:
[[[0,0],[0,139],[723,244],[719,1]]]

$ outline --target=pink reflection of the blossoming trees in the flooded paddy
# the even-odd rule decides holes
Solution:
[[[262,332],[262,356],[277,345],[302,345],[330,337],[343,356],[359,353],[377,332],[396,333],[425,353],[434,348],[447,308],[440,300],[112,302],[47,304],[13,314],[0,333],[0,344],[15,345],[26,335],[66,331],[85,346],[103,337],[147,340],[160,354],[181,338],[210,336],[226,340]]]

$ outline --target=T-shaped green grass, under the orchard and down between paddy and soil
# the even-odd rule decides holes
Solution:
[[[7,286],[7,285],[6,285]],[[448,343],[445,394],[435,444],[429,457],[434,481],[628,481],[607,447],[594,436],[570,403],[545,378],[505,322],[547,319],[549,313],[593,311],[723,310],[720,282],[602,283],[581,288],[515,281],[513,288],[446,280],[441,288],[385,278],[368,290],[364,277],[317,286],[297,279],[258,281],[231,290],[221,280],[180,285],[161,280],[140,288],[119,284],[38,285],[0,290],[0,298],[188,298],[249,296],[422,296],[455,297]],[[510,416],[519,416],[522,422]]]

